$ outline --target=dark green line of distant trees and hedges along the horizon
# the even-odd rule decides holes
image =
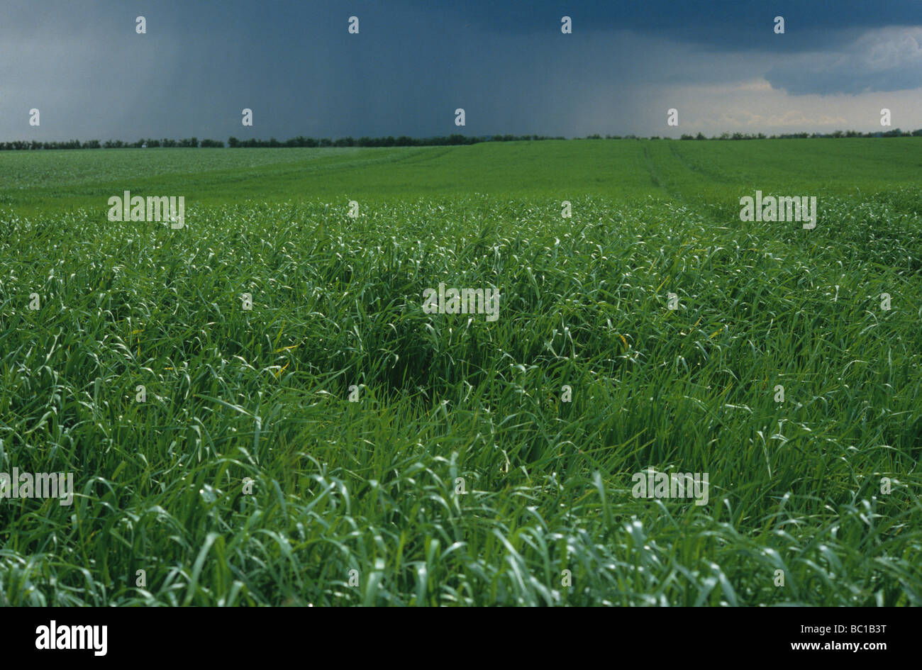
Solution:
[[[886,132],[876,133],[858,133],[855,130],[841,131],[836,130],[833,133],[788,133],[785,135],[764,135],[763,133],[723,133],[705,137],[702,133],[698,135],[681,135],[680,139],[701,140],[701,139],[807,139],[817,137],[922,137],[922,129],[912,132],[901,131],[899,128],[888,130]],[[298,135],[287,140],[278,140],[275,137],[269,139],[237,139],[236,137],[228,138],[227,146],[231,148],[252,148],[252,147],[448,147],[456,145],[473,145],[480,142],[514,142],[514,141],[538,141],[548,139],[566,139],[566,137],[550,137],[546,135],[484,135],[480,137],[468,137],[466,135],[444,135],[439,137],[408,137],[400,135],[393,137],[339,137],[330,139],[328,137],[304,137]],[[646,139],[637,135],[586,135],[585,137],[575,137],[574,139]],[[653,135],[649,139],[661,139],[658,135]],[[667,138],[668,139],[668,138]],[[124,142],[120,139],[110,139],[100,142],[98,139],[91,139],[86,142],[80,142],[72,139],[67,142],[37,142],[35,140],[18,140],[16,142],[0,142],[0,151],[21,151],[30,149],[121,149],[121,148],[146,148],[146,147],[224,147],[224,142],[219,139],[203,139],[199,141],[196,137],[187,139],[139,139],[136,142]]]

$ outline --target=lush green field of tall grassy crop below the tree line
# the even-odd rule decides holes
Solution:
[[[918,138],[0,152],[0,472],[75,488],[0,499],[0,604],[922,605],[920,168]],[[757,190],[816,228],[740,221]],[[124,191],[184,228],[109,221]],[[424,312],[440,283],[498,319]],[[634,497],[648,468],[709,500]]]

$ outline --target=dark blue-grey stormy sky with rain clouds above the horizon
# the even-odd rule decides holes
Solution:
[[[881,108],[922,128],[922,0],[0,6],[0,140],[867,132]]]

